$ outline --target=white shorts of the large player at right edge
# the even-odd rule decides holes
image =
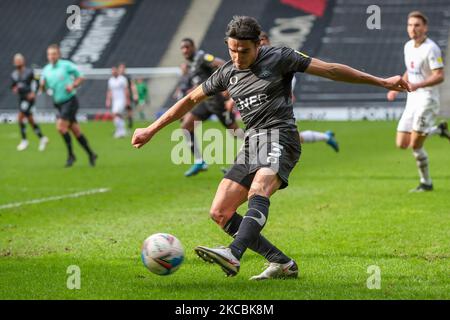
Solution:
[[[406,99],[406,107],[397,126],[400,132],[427,133],[436,122],[439,101],[428,92],[411,92]]]

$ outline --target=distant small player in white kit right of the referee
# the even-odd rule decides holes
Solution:
[[[127,79],[119,74],[117,67],[111,69],[112,77],[108,80],[106,93],[106,108],[111,108],[114,116],[114,138],[123,138],[126,135],[124,113],[130,103]]]

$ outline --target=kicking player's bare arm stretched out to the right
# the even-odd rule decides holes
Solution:
[[[334,81],[370,84],[395,91],[411,91],[409,83],[402,76],[379,78],[344,64],[328,63],[315,58],[312,58],[305,72]]]

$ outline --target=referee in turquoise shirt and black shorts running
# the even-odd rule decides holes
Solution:
[[[69,131],[72,131],[73,135],[88,154],[90,165],[95,166],[97,154],[90,148],[76,118],[79,107],[76,89],[84,79],[73,62],[60,59],[60,57],[61,52],[58,45],[52,44],[47,48],[48,64],[42,70],[41,92],[46,91],[51,93],[55,108],[58,110],[56,127],[67,147],[68,157],[66,167],[71,167],[76,161]]]

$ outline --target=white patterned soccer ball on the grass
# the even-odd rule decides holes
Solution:
[[[148,270],[160,276],[167,276],[180,268],[184,250],[181,242],[173,235],[155,233],[145,239],[141,258]]]

